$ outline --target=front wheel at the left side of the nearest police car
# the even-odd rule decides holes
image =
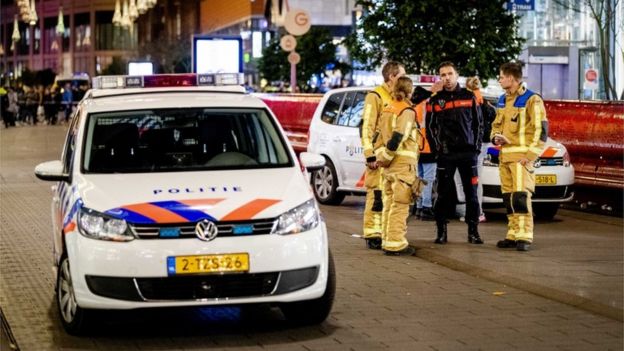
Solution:
[[[63,328],[70,335],[83,335],[88,330],[92,311],[83,309],[76,303],[74,286],[69,273],[69,259],[61,258],[56,278],[56,306]]]

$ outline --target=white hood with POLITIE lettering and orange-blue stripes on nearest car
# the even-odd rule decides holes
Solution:
[[[300,169],[86,174],[82,206],[130,223],[273,218],[313,198]]]

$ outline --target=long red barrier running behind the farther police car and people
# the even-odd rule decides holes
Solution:
[[[305,151],[318,94],[256,94],[271,108],[295,151]],[[545,101],[549,136],[568,149],[579,184],[624,189],[624,102]]]

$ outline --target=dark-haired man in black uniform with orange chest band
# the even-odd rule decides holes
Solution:
[[[436,182],[438,198],[434,204],[437,226],[435,243],[447,242],[446,216],[455,207],[455,170],[461,176],[466,196],[468,242],[483,244],[479,236],[479,200],[477,199],[477,157],[483,138],[483,117],[472,92],[457,83],[457,70],[452,62],[438,67],[444,89],[429,100],[427,140],[438,154]]]

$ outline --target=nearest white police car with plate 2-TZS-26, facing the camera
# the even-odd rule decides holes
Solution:
[[[78,105],[52,201],[57,305],[80,334],[94,309],[268,303],[329,314],[327,229],[299,160],[239,74],[103,76]]]

